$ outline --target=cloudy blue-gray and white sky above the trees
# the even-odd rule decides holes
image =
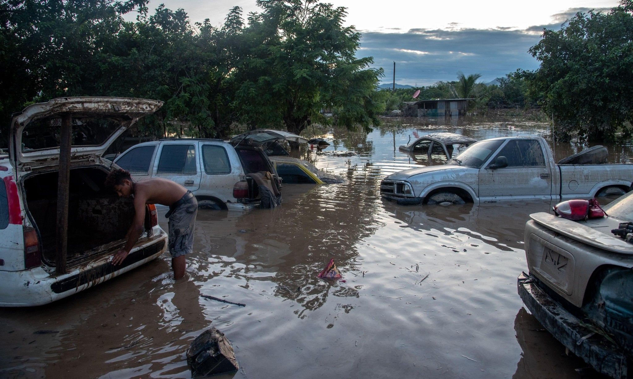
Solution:
[[[480,73],[482,81],[517,68],[536,69],[527,50],[543,28],[557,29],[578,11],[608,10],[617,0],[330,0],[348,8],[347,21],[363,35],[358,56],[373,56],[384,68],[382,83],[431,85],[454,80],[457,71]],[[160,1],[152,1],[155,8]],[[184,8],[192,21],[209,18],[222,25],[229,9],[244,15],[258,11],[254,0],[165,0],[170,9]]]

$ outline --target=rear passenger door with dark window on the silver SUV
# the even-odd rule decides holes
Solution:
[[[200,157],[197,142],[163,143],[154,159],[153,177],[163,177],[189,191],[200,188]]]

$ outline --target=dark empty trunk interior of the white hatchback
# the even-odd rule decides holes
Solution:
[[[100,166],[70,170],[69,265],[112,253],[125,243],[134,206],[131,199],[119,198],[105,188],[107,175],[108,170]],[[56,259],[57,181],[58,171],[30,174],[23,181],[26,207],[39,235],[42,260],[50,266],[55,265]]]

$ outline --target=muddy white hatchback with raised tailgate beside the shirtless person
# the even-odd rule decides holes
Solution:
[[[156,207],[147,205],[145,230],[134,248],[121,265],[110,263],[127,242],[134,207],[104,186],[108,173],[118,167],[101,158],[125,129],[161,105],[146,99],[65,97],[28,105],[13,115],[9,154],[0,156],[0,306],[51,303],[166,250]],[[68,234],[66,269],[59,273],[64,267],[56,252],[60,130],[68,115]]]

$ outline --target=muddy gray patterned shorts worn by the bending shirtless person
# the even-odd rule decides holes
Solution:
[[[185,193],[183,198],[190,196]],[[197,201],[191,196],[169,213],[169,252],[172,258],[189,254],[194,249],[194,226],[196,224]]]

